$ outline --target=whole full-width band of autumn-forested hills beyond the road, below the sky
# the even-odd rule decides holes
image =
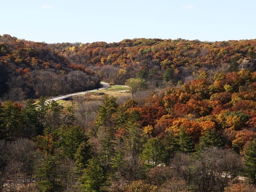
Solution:
[[[148,88],[165,88],[198,72],[255,69],[256,40],[133,39],[119,43],[35,43],[0,37],[0,97],[22,100],[145,79]],[[78,79],[80,79],[78,81]],[[76,83],[75,83],[76,82]],[[77,83],[80,84],[77,84]]]

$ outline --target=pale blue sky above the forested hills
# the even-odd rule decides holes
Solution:
[[[0,35],[46,42],[256,38],[256,0],[0,0]]]

